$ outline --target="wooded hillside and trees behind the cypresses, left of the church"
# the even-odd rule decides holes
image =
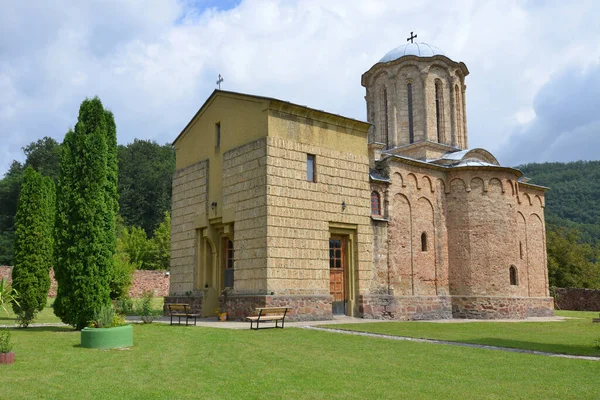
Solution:
[[[118,247],[136,268],[169,268],[171,179],[175,150],[135,139],[118,146]],[[14,256],[15,215],[25,170],[32,167],[55,183],[59,176],[61,144],[44,137],[23,148],[25,162],[13,161],[0,179],[0,265]],[[166,254],[165,254],[166,253]]]

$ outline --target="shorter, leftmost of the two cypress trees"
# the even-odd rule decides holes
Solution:
[[[19,293],[13,310],[28,326],[46,306],[52,265],[54,184],[33,168],[25,170],[15,217],[15,258],[12,286]]]

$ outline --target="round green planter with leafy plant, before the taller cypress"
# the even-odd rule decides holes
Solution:
[[[133,346],[133,328],[115,314],[111,306],[94,313],[90,326],[81,330],[81,347],[89,349],[120,349]]]

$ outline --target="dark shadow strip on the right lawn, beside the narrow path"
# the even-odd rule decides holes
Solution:
[[[455,342],[480,344],[485,346],[508,347],[511,349],[520,350],[543,351],[546,353],[600,357],[600,349],[594,348],[593,343],[590,343],[589,345],[576,345],[562,343],[527,342],[523,340],[510,340],[499,338],[455,340]]]

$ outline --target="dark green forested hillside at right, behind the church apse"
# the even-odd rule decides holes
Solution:
[[[546,221],[574,228],[579,240],[600,243],[600,161],[526,164],[517,167],[530,183],[549,187]]]

